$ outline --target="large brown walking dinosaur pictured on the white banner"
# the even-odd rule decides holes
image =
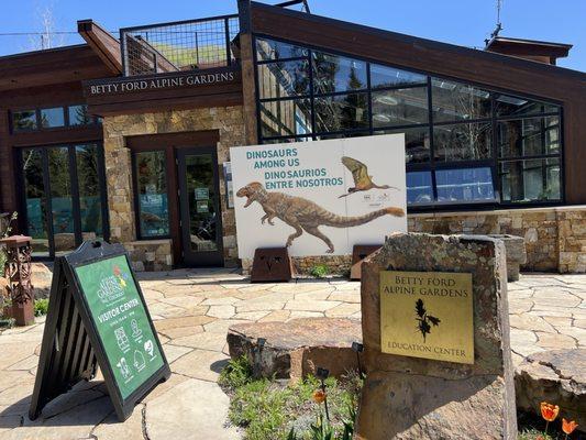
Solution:
[[[320,226],[352,228],[386,215],[395,217],[405,216],[405,211],[401,208],[384,208],[364,216],[342,217],[327,211],[318,204],[302,197],[289,196],[284,193],[269,193],[258,182],[252,182],[245,187],[240,188],[236,196],[246,197],[244,208],[247,208],[253,201],[257,201],[263,207],[265,215],[261,218],[261,223],[264,224],[266,220],[269,224],[275,224],[273,223],[273,219],[278,218],[295,229],[295,232],[287,239],[287,248],[306,231],[328,244],[327,253],[333,253],[334,245],[318,229]]]

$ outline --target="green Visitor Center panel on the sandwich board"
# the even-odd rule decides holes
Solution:
[[[75,272],[125,399],[164,365],[128,260],[118,255]]]

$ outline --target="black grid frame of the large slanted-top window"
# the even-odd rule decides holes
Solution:
[[[294,46],[298,46],[301,50],[307,51],[306,55],[303,56],[297,56],[297,57],[288,57],[288,58],[276,58],[276,59],[258,59],[258,54],[256,51],[256,41],[257,38],[268,40],[268,41],[276,41],[278,43],[284,44],[290,44]],[[333,138],[336,135],[347,136],[352,134],[356,135],[374,135],[377,134],[377,132],[385,131],[385,130],[392,130],[392,131],[400,131],[401,129],[413,129],[413,128],[428,128],[429,129],[429,136],[430,136],[430,161],[429,162],[422,162],[422,163],[406,163],[406,172],[416,172],[416,170],[430,170],[432,175],[432,188],[433,188],[433,202],[430,205],[411,205],[408,206],[409,211],[411,212],[429,212],[430,210],[466,210],[469,209],[471,206],[474,209],[494,209],[494,208],[526,208],[526,207],[535,207],[535,206],[559,206],[564,204],[565,201],[565,166],[564,166],[564,114],[563,114],[563,102],[545,99],[542,97],[537,97],[531,94],[520,94],[512,90],[507,90],[499,87],[491,87],[486,86],[476,81],[471,80],[464,80],[462,78],[455,78],[450,77],[446,75],[438,75],[435,73],[424,72],[420,69],[413,69],[410,67],[399,66],[399,65],[392,65],[387,63],[382,63],[380,61],[372,59],[368,57],[356,57],[351,54],[345,54],[340,51],[330,50],[330,48],[320,48],[313,45],[308,44],[299,44],[296,42],[288,41],[287,38],[279,38],[274,37],[272,35],[266,35],[262,33],[255,33],[253,35],[253,43],[254,43],[254,51],[253,51],[253,59],[254,59],[254,68],[255,68],[255,84],[256,84],[256,109],[257,109],[257,139],[259,144],[263,144],[265,142],[269,143],[278,143],[279,141],[283,142],[290,142],[294,140],[302,140],[302,139],[310,139],[310,140],[317,140],[322,136]],[[324,52],[327,54],[331,55],[338,55],[342,57],[349,57],[354,58],[360,62],[366,63],[366,73],[367,73],[367,87],[366,89],[362,90],[353,90],[351,92],[366,92],[368,96],[368,128],[361,128],[361,129],[354,129],[354,130],[345,130],[345,131],[336,131],[336,132],[318,132],[316,131],[316,110],[314,110],[314,98],[316,97],[330,97],[335,95],[346,95],[349,91],[336,91],[331,94],[314,94],[314,87],[313,87],[313,52]],[[261,64],[274,64],[278,62],[287,62],[287,61],[299,61],[299,59],[306,59],[309,62],[309,75],[310,75],[310,82],[309,82],[309,95],[299,95],[296,96],[295,99],[309,99],[310,100],[310,108],[311,108],[311,131],[309,133],[303,134],[295,134],[295,135],[276,135],[276,136],[264,136],[262,133],[262,120],[261,120],[261,103],[272,100],[278,100],[283,98],[277,99],[270,99],[270,98],[259,98],[258,94],[258,69],[257,65]],[[423,75],[427,77],[427,91],[428,91],[428,111],[429,111],[429,123],[428,124],[406,124],[406,125],[394,125],[389,128],[373,128],[373,111],[372,111],[372,94],[373,91],[384,91],[389,89],[405,89],[405,88],[411,88],[411,87],[425,87],[424,84],[418,82],[413,85],[399,85],[399,86],[389,86],[389,87],[376,87],[372,88],[371,80],[371,66],[377,65],[382,67],[389,67],[395,68],[398,70],[406,70],[413,74]],[[454,120],[454,121],[442,121],[442,122],[434,122],[433,118],[433,99],[432,99],[432,78],[445,80],[450,82],[458,82],[463,84],[469,87],[478,88],[482,90],[486,90],[490,94],[490,116],[489,118],[476,118],[476,119],[466,119],[466,120]],[[556,106],[557,111],[555,112],[543,112],[543,113],[527,113],[522,116],[497,116],[496,112],[496,98],[500,95],[506,96],[512,96],[518,97],[521,99],[528,99],[528,100],[535,100],[545,105]],[[290,98],[285,98],[290,99]],[[497,139],[497,127],[498,123],[505,120],[518,120],[518,119],[531,119],[531,118],[546,118],[546,117],[557,117],[560,119],[560,125],[559,125],[559,143],[560,143],[560,152],[555,154],[549,154],[549,155],[539,155],[539,156],[521,156],[516,157],[518,160],[531,160],[531,158],[559,158],[560,160],[560,199],[559,200],[532,200],[527,202],[510,202],[501,199],[501,182],[499,178],[499,167],[501,157],[498,156],[498,139]],[[447,161],[447,162],[441,162],[435,161],[435,145],[433,141],[433,128],[435,125],[452,125],[452,124],[463,124],[463,123],[488,123],[490,125],[491,133],[489,135],[491,148],[490,148],[490,156],[486,160],[479,160],[479,161]],[[367,132],[367,133],[366,133]],[[510,161],[511,158],[508,157],[505,160]],[[465,202],[465,204],[456,204],[456,205],[446,205],[442,202],[438,202],[438,189],[436,189],[436,182],[435,182],[435,169],[444,169],[444,168],[471,168],[471,167],[489,167],[491,172],[491,178],[493,178],[493,185],[494,185],[494,194],[495,194],[495,200],[487,202],[487,201],[479,201],[479,202]]]

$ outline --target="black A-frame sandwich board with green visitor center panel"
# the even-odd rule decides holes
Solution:
[[[103,241],[55,260],[30,418],[97,366],[121,421],[170,376],[128,254]]]

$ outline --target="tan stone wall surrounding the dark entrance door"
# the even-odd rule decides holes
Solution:
[[[226,266],[236,266],[236,226],[234,210],[226,209],[226,195],[222,164],[230,160],[231,146],[244,145],[244,122],[242,107],[217,107],[157,113],[123,114],[103,119],[103,147],[108,186],[108,209],[110,215],[110,238],[112,242],[124,243],[134,253],[136,268],[144,256],[144,268],[150,266],[167,268],[173,266],[170,240],[145,240],[136,242],[135,212],[131,153],[125,136],[162,134],[185,131],[218,130],[218,167],[222,206],[224,260]],[[165,250],[165,254],[163,253]],[[155,256],[154,260],[152,258]]]

